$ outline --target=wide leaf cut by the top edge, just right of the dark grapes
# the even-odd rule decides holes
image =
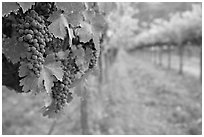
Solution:
[[[85,10],[85,5],[82,2],[56,2],[56,6],[63,10],[65,14],[79,13]]]

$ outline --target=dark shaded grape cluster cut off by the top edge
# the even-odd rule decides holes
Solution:
[[[34,9],[39,15],[43,15],[45,18],[48,18],[54,11],[57,10],[57,7],[54,2],[36,2]]]

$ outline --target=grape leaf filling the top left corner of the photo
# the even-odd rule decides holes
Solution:
[[[7,15],[12,11],[17,11],[19,5],[17,2],[2,2],[2,15]]]

